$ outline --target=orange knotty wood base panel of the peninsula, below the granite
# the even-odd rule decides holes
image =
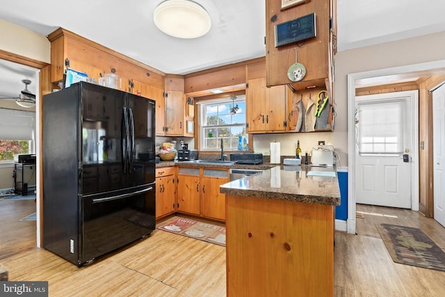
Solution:
[[[334,296],[333,206],[227,196],[227,296]]]

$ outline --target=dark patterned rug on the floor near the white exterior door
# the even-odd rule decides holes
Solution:
[[[422,230],[390,224],[375,227],[394,262],[445,271],[445,252]]]

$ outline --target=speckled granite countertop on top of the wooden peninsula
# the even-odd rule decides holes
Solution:
[[[334,177],[309,176],[309,172],[332,172]],[[317,173],[315,173],[317,174]],[[339,205],[340,188],[334,168],[275,166],[220,186],[220,192],[257,198]]]

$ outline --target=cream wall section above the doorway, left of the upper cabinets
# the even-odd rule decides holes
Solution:
[[[51,43],[46,36],[0,19],[0,49],[51,63]]]

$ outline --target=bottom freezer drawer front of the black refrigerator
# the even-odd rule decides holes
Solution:
[[[156,228],[155,186],[79,197],[81,266],[96,257],[152,233]]]

